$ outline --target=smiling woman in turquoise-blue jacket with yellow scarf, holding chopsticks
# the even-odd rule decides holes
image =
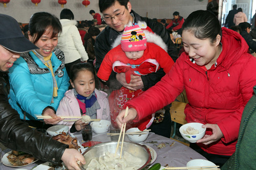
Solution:
[[[38,12],[29,21],[29,40],[38,49],[21,55],[10,68],[10,104],[18,111],[20,119],[36,128],[57,124],[60,117],[55,111],[69,87],[64,55],[54,50],[58,43],[61,24],[55,16]],[[44,121],[36,115],[49,115]]]

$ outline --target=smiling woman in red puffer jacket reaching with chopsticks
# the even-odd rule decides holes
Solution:
[[[248,45],[240,34],[222,28],[210,11],[191,13],[182,27],[185,52],[155,86],[127,102],[117,123],[154,113],[172,103],[185,89],[188,123],[198,122],[207,128],[197,141],[200,154],[222,165],[235,149],[242,112],[256,84],[256,58],[247,53]]]

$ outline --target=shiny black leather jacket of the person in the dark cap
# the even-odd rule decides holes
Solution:
[[[8,84],[7,73],[0,71],[0,142],[9,149],[58,163],[68,145],[33,130],[20,120],[19,114],[8,102]]]

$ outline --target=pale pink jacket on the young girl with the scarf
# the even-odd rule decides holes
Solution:
[[[95,88],[95,94],[97,101],[100,105],[100,109],[97,110],[97,118],[110,120],[110,106],[108,101],[108,94],[103,91],[99,91]],[[79,104],[74,95],[74,89],[68,90],[65,96],[59,103],[59,107],[56,111],[56,115],[62,116],[81,116]],[[58,125],[67,125],[69,129],[75,122],[59,122]]]

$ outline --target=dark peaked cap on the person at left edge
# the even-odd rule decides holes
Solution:
[[[15,53],[24,53],[38,48],[31,43],[11,16],[0,14],[0,45]]]

